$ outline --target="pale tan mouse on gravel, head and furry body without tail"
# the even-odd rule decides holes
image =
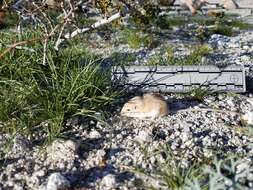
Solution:
[[[120,114],[140,119],[155,119],[168,115],[168,105],[162,95],[148,93],[135,96],[123,106]]]

